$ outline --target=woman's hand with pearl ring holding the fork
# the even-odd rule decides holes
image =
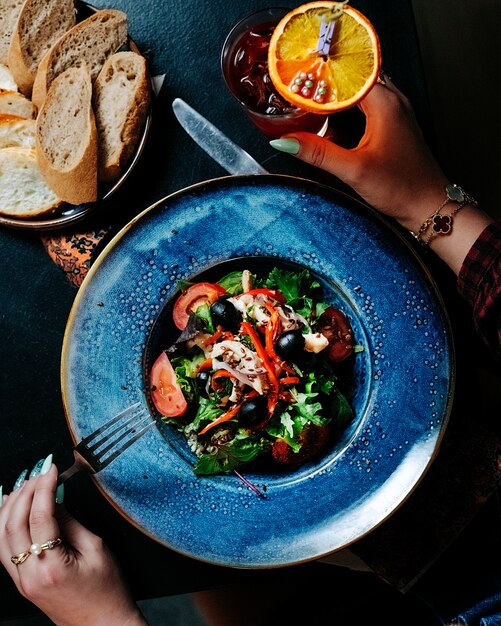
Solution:
[[[115,560],[103,541],[55,504],[57,470],[46,459],[39,476],[3,496],[0,560],[20,593],[58,626],[144,625]],[[62,543],[30,553],[19,565],[11,556],[32,544]]]

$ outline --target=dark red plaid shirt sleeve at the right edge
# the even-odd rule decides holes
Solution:
[[[501,221],[489,224],[473,244],[457,286],[473,309],[480,337],[501,357]]]

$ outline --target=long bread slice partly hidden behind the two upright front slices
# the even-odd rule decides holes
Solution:
[[[41,107],[52,81],[64,70],[85,62],[92,80],[106,59],[127,42],[127,16],[102,9],[67,31],[44,56],[35,76],[32,100]]]

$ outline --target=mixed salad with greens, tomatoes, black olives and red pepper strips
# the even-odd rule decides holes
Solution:
[[[183,285],[172,320],[181,333],[151,368],[151,399],[196,474],[297,467],[352,419],[339,363],[362,348],[307,270]]]

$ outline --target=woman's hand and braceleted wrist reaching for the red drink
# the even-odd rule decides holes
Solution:
[[[376,84],[359,106],[366,126],[356,148],[346,149],[311,133],[293,133],[271,145],[334,174],[375,209],[418,232],[443,203],[449,181],[427,146],[408,99],[389,79],[384,86]],[[457,273],[491,221],[479,209],[466,206],[454,217],[452,234],[434,237],[430,247]]]

